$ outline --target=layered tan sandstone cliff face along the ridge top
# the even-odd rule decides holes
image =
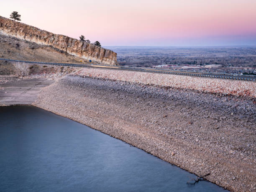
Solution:
[[[58,35],[0,16],[0,33],[54,46],[74,56],[102,64],[118,65],[116,53],[64,35]]]

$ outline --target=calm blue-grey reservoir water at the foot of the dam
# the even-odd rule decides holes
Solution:
[[[0,107],[0,191],[217,192],[143,150],[32,106]]]

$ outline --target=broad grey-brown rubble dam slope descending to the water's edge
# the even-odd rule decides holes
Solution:
[[[207,180],[232,191],[256,191],[255,100],[80,76],[84,78],[67,75],[44,87],[33,105],[84,123],[199,176],[210,173]],[[181,82],[188,78],[178,77]]]

